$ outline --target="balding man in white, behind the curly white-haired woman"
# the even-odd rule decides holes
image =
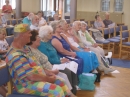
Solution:
[[[37,15],[34,15],[31,20],[32,24],[30,26],[30,30],[39,30],[39,18]]]

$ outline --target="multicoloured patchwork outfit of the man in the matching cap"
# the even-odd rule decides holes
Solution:
[[[46,75],[27,46],[23,50],[11,47],[7,53],[6,63],[9,66],[14,87],[19,93],[44,97],[65,97],[70,93],[61,79],[56,79],[54,84],[27,79],[27,76],[31,74]]]

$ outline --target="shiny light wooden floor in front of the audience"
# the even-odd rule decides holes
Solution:
[[[120,73],[102,74],[95,91],[78,91],[78,97],[130,97],[130,69],[113,67]]]

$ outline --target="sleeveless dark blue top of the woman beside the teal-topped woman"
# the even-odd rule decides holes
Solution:
[[[61,44],[62,44],[62,46],[63,46],[63,48],[64,48],[65,50],[70,51],[70,45],[66,42],[66,40],[65,40],[63,37],[61,37],[61,39],[59,39],[58,37],[53,36],[52,39],[54,39],[54,38],[58,39],[58,40],[61,42]],[[63,54],[61,54],[61,53],[59,53],[59,52],[58,52],[58,54],[59,54],[61,57],[64,57],[64,56],[65,56],[65,55],[63,55]]]

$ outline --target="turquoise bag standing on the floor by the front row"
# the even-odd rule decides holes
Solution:
[[[83,73],[79,75],[79,88],[81,90],[95,90],[96,75],[91,73]]]

